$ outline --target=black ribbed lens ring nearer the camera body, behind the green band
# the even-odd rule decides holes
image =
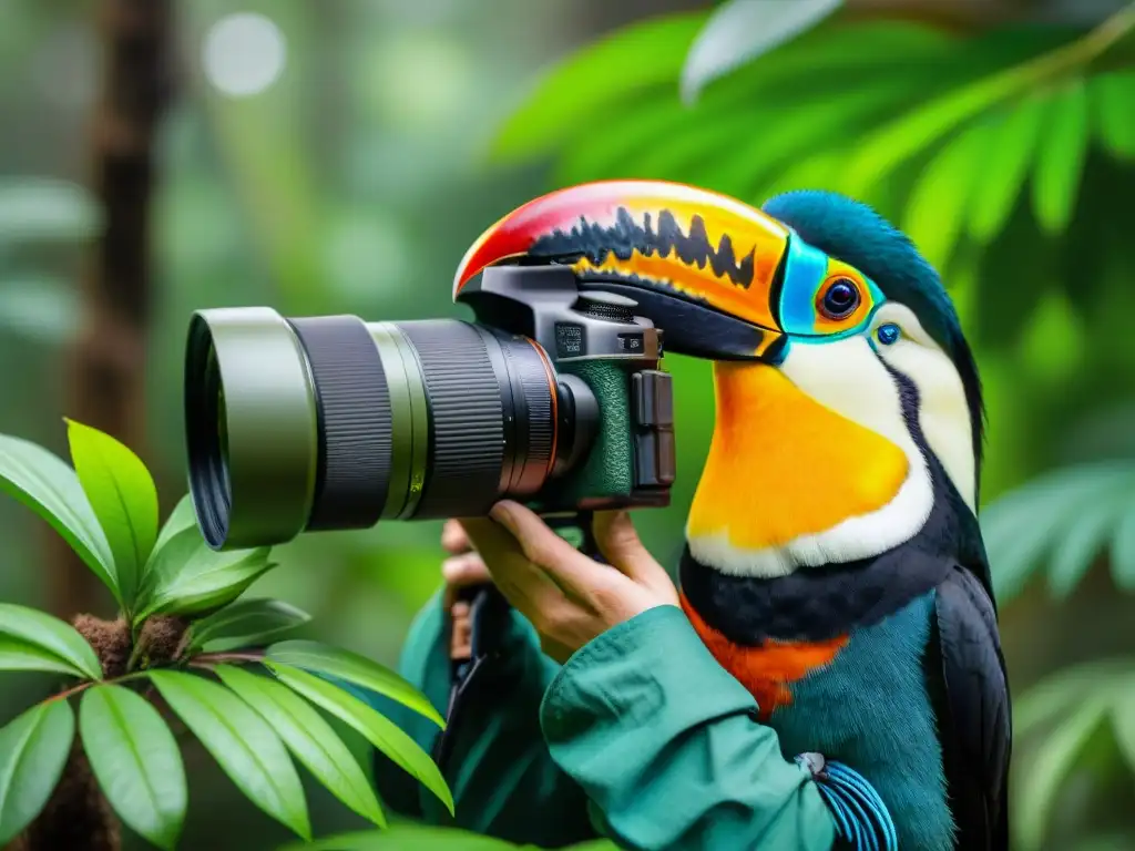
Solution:
[[[486,513],[504,463],[501,385],[481,331],[468,322],[398,326],[418,352],[430,411],[430,458],[418,517]]]

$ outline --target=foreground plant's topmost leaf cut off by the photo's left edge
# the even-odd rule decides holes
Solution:
[[[107,537],[78,475],[58,455],[28,440],[0,435],[0,490],[50,523],[121,603]]]

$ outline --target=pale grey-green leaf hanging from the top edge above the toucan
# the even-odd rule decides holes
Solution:
[[[843,0],[729,0],[698,33],[682,66],[682,99],[817,25]]]

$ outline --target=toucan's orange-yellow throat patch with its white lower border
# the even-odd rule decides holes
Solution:
[[[687,526],[696,558],[728,574],[775,576],[898,542],[886,539],[896,524],[885,514],[911,487],[917,450],[836,414],[773,366],[716,363],[714,384],[716,423]],[[919,507],[906,511],[923,511],[919,524],[930,511],[928,481],[922,487]],[[841,536],[852,519],[861,529]]]

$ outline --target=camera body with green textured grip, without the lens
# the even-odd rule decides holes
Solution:
[[[581,289],[562,266],[486,269],[457,296],[477,322],[527,337],[556,376],[556,426],[571,448],[562,473],[527,499],[544,514],[665,506],[674,481],[671,376],[659,366],[663,330],[637,303]]]

